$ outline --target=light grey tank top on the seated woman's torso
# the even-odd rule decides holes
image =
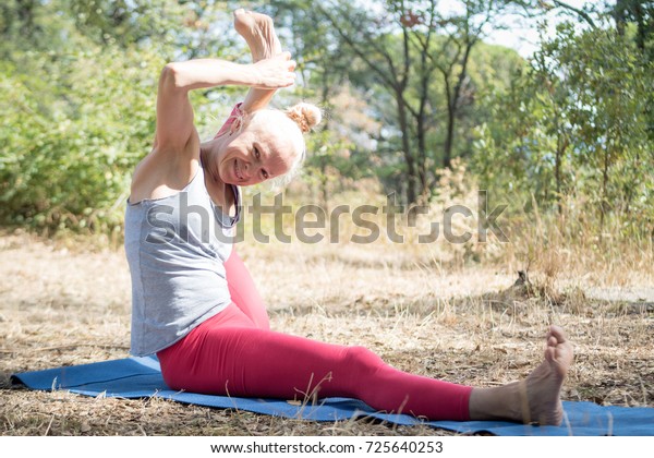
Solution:
[[[131,353],[156,353],[231,302],[223,263],[241,215],[214,205],[198,171],[179,193],[128,201],[125,253],[132,274]]]

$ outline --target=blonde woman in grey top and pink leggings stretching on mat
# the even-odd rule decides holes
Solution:
[[[160,77],[152,153],[137,166],[125,214],[133,284],[132,352],[157,353],[172,389],[292,399],[359,398],[431,420],[505,419],[559,424],[572,347],[553,326],[545,359],[525,379],[473,388],[398,371],[362,347],[271,332],[265,306],[229,243],[240,185],[280,179],[304,155],[315,107],[268,110],[293,83],[271,20],[239,10],[252,64],[205,59],[168,64]],[[201,143],[189,92],[242,85],[250,92],[215,138]],[[209,222],[207,222],[209,221]]]

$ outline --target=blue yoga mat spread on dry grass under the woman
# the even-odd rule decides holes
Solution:
[[[561,426],[533,426],[502,421],[421,422],[407,414],[388,414],[364,402],[348,398],[326,398],[316,405],[298,405],[280,399],[233,398],[169,389],[154,357],[126,358],[92,364],[24,372],[12,375],[13,383],[32,389],[65,389],[85,396],[117,398],[159,397],[183,403],[221,409],[246,410],[268,415],[313,421],[353,418],[378,419],[400,425],[427,424],[461,434],[491,433],[504,436],[652,436],[654,408],[602,407],[593,402],[564,402],[566,419]]]

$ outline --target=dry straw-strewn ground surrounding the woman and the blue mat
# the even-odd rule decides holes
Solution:
[[[619,285],[593,273],[561,279],[554,300],[512,287],[513,266],[449,272],[343,246],[239,251],[276,330],[363,345],[402,370],[493,386],[526,375],[542,358],[548,324],[557,323],[577,354],[564,399],[654,407],[651,273]],[[130,278],[120,249],[0,236],[0,328],[2,435],[451,434],[12,386],[12,373],[128,357]]]

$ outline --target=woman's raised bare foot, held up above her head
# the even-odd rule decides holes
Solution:
[[[245,38],[255,62],[281,52],[271,17],[241,8],[234,11],[234,28]]]

